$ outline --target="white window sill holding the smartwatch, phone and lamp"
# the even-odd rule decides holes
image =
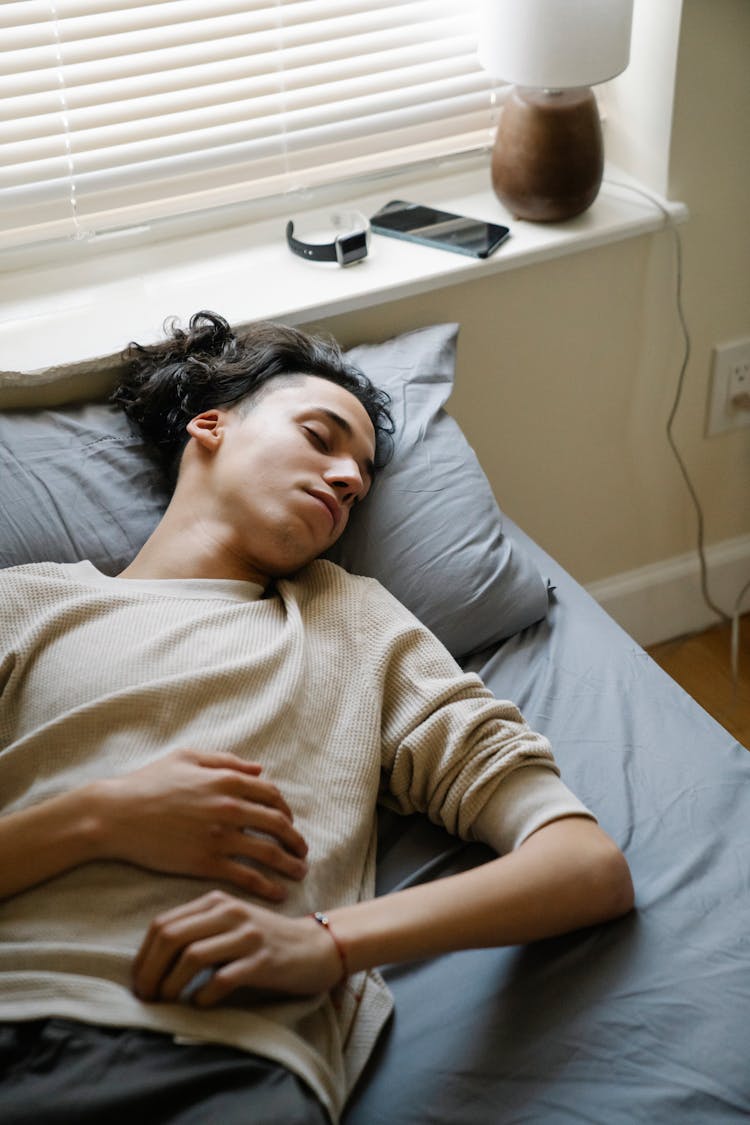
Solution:
[[[424,173],[423,173],[424,174]],[[518,267],[657,231],[665,225],[659,206],[618,183],[631,182],[608,170],[602,191],[584,215],[560,224],[514,220],[489,184],[486,160],[470,169],[433,176],[403,177],[355,186],[346,200],[302,208],[286,201],[289,214],[264,217],[179,237],[146,238],[138,232],[75,248],[74,261],[16,266],[0,274],[3,323],[0,349],[6,371],[42,371],[78,366],[118,353],[129,340],[161,339],[168,316],[183,323],[211,308],[233,325],[255,320],[290,324],[398,300],[432,289],[476,281]],[[342,270],[306,262],[289,253],[287,218],[305,228],[319,227],[337,206],[372,214],[388,198],[434,204],[510,227],[510,237],[486,261],[372,235],[365,261]],[[687,217],[683,204],[660,200],[676,222]],[[0,375],[0,381],[2,377]],[[11,380],[12,381],[12,380]]]

